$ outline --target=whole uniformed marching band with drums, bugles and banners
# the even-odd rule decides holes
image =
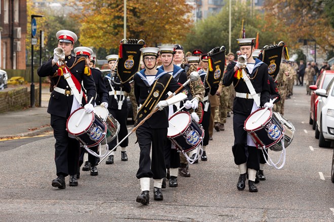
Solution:
[[[67,175],[69,186],[78,186],[84,163],[82,170],[98,175],[97,165],[104,158],[106,164],[113,164],[118,146],[121,160],[127,161],[128,137],[135,131],[140,148],[136,177],[141,189],[136,202],[149,204],[150,191],[154,200],[161,201],[166,180],[169,187],[177,187],[178,174],[189,177],[191,164],[208,160],[213,128],[224,130],[230,109],[237,189],[244,190],[248,179],[249,192],[257,192],[255,184],[266,180],[268,150],[285,155],[293,139],[294,127],[280,113],[284,110],[281,86],[289,70],[285,63],[275,61],[274,73],[273,61],[265,62],[270,50],[279,47],[283,47],[279,58],[288,59],[284,42],[255,51],[255,38],[237,39],[241,55],[234,61],[233,53],[225,58],[225,47],[206,54],[195,49],[185,57],[180,45],[153,48],[141,44],[142,39],[123,39],[119,55],[106,56],[110,73],[102,78],[90,48],[73,50],[78,40],[75,33],[60,30],[56,37],[54,56],[38,69],[39,76],[50,76],[54,83],[48,106],[56,139],[53,187],[65,189]],[[138,71],[140,64],[144,68]],[[130,92],[138,108],[133,107],[135,127],[128,134],[126,97]],[[103,148],[105,154],[101,154]]]

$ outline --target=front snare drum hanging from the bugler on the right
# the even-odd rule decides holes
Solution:
[[[270,109],[264,110],[265,108],[258,109],[250,114],[245,121],[244,129],[257,149],[269,148],[273,151],[281,151],[283,149],[281,140],[284,138],[285,128]]]

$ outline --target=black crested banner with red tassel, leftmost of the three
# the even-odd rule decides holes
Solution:
[[[140,49],[143,46],[144,44],[137,44],[137,41],[130,40],[127,43],[120,43],[117,75],[121,83],[130,81],[133,75],[138,72],[141,56]]]

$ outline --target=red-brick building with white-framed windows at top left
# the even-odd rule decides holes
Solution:
[[[26,0],[0,0],[0,68],[26,69]]]

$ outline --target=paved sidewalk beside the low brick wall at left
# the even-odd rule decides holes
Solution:
[[[0,139],[32,137],[52,131],[47,113],[49,88],[42,88],[42,107],[0,113]]]

